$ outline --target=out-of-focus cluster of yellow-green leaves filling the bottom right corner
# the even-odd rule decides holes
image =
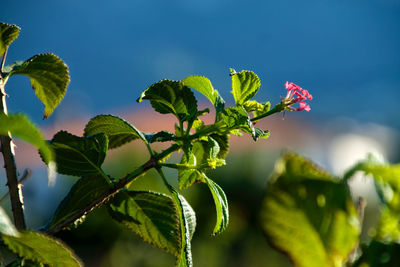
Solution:
[[[381,199],[371,239],[359,246],[362,201],[355,207],[348,181],[371,175]],[[400,263],[400,164],[359,162],[342,178],[292,153],[278,160],[260,219],[264,233],[295,266],[398,266]]]

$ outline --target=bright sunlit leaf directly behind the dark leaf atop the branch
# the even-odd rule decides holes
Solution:
[[[190,88],[193,88],[210,100],[214,105],[217,113],[225,108],[225,101],[219,95],[218,91],[214,89],[210,80],[204,76],[189,76],[182,80],[182,83]]]

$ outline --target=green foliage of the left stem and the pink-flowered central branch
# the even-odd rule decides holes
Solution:
[[[3,55],[3,61],[8,46],[18,34],[17,26],[0,24],[0,54]],[[2,66],[3,91],[8,79],[15,74],[29,77],[37,97],[45,106],[44,118],[60,103],[69,83],[68,68],[52,54],[36,55],[26,61]],[[189,76],[181,81],[162,80],[147,88],[138,102],[149,100],[155,111],[175,115],[177,123],[174,133],[144,133],[122,118],[99,115],[89,121],[83,136],[60,131],[47,142],[26,116],[6,112],[0,114],[0,135],[12,135],[36,146],[43,161],[49,166],[50,173],[55,171],[56,166],[58,173],[80,177],[60,203],[50,222],[41,229],[42,232],[10,230],[11,224],[4,219],[4,228],[1,231],[4,244],[24,260],[62,265],[61,262],[54,264],[54,255],[57,254],[46,250],[47,241],[41,240],[53,243],[58,241],[44,233],[52,234],[77,225],[94,208],[106,205],[112,218],[139,234],[145,241],[175,255],[177,266],[191,266],[190,240],[196,227],[195,213],[177,189],[167,182],[162,169],[177,169],[180,190],[195,183],[208,186],[217,213],[212,234],[217,235],[228,225],[228,202],[222,188],[207,177],[206,171],[225,164],[230,134],[241,135],[244,132],[250,134],[254,140],[266,138],[269,132],[254,127],[253,121],[257,120],[257,116],[265,116],[268,112],[272,114],[282,111],[279,106],[279,109],[271,112],[268,102],[258,103],[251,100],[261,85],[255,73],[231,70],[231,76],[236,103],[233,107],[225,107],[218,91],[203,76]],[[209,109],[198,110],[192,90],[199,91],[211,101],[215,108],[213,124],[206,125],[200,119]],[[5,92],[2,93],[5,95]],[[146,145],[149,160],[124,177],[114,178],[107,175],[102,169],[102,163],[108,150],[133,140],[140,140]],[[151,147],[155,142],[170,142],[171,146],[156,152]],[[165,162],[171,153],[179,151],[182,151],[179,163]],[[126,189],[131,181],[152,168],[159,172],[169,195]],[[35,241],[38,242],[37,246],[32,243],[35,235],[38,236]],[[62,253],[69,252],[65,246],[60,247]],[[46,253],[53,253],[53,257],[49,256],[51,259],[47,260]],[[75,256],[70,258],[79,265]]]

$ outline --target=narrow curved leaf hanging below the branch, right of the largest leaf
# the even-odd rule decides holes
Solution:
[[[222,233],[229,223],[228,200],[218,184],[207,177],[205,177],[205,181],[211,191],[217,211],[217,222],[213,230],[213,235],[217,235]]]

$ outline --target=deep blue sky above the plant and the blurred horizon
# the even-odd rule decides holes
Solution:
[[[289,80],[313,94],[308,116],[400,126],[398,0],[2,0],[0,20],[22,28],[8,64],[54,52],[70,67],[50,122],[140,108],[148,85],[192,74],[229,102],[233,67],[259,75],[258,100],[278,102]],[[26,78],[6,90],[10,110],[42,123]]]

